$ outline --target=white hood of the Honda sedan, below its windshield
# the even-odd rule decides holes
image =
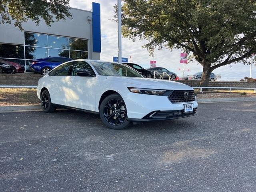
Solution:
[[[176,81],[138,78],[138,77],[119,77],[106,76],[107,80],[114,82],[123,82],[128,86],[139,88],[167,89],[167,90],[193,90],[192,87]]]

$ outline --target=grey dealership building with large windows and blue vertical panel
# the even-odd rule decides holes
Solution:
[[[22,64],[28,70],[31,60],[62,56],[72,59],[100,59],[100,4],[92,11],[71,8],[72,19],[47,26],[29,20],[24,31],[12,24],[0,24],[0,58]]]

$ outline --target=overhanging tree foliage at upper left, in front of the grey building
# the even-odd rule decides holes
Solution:
[[[30,19],[38,25],[42,18],[50,26],[54,21],[72,18],[69,10],[69,0],[1,0],[0,24],[14,22],[24,30],[23,22]]]

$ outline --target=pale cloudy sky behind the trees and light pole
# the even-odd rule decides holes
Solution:
[[[100,59],[105,61],[113,61],[113,56],[118,56],[118,34],[117,23],[111,19],[114,16],[114,4],[117,4],[117,0],[94,0],[93,2],[100,3],[101,8],[101,54]],[[70,0],[70,7],[79,8],[83,10],[92,10],[91,0]],[[150,60],[153,60],[149,56],[149,52],[142,48],[147,41],[136,40],[133,42],[127,38],[122,38],[122,57],[127,57],[128,61],[139,64],[143,68],[150,67]],[[181,50],[168,50],[163,48],[162,50],[155,50],[154,60],[156,60],[156,66],[167,68],[168,70],[175,72],[179,77],[182,77],[183,64],[180,64],[180,52]],[[179,70],[180,69],[180,70]],[[202,72],[202,66],[198,62],[189,62],[185,65],[184,76],[188,74],[195,74]],[[221,74],[222,80],[240,80],[245,76],[250,75],[250,66],[242,63],[231,64],[222,66],[213,71],[216,74]],[[256,66],[252,65],[252,77],[256,78]]]

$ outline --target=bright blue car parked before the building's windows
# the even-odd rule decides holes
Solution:
[[[72,59],[66,57],[46,57],[42,59],[32,60],[29,69],[45,75],[56,66],[71,60]]]

